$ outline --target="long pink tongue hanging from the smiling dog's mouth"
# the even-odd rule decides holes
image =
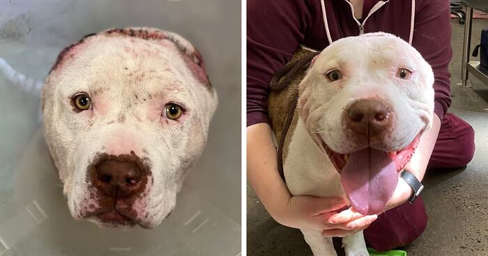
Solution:
[[[395,191],[397,168],[387,152],[367,147],[349,156],[341,171],[341,181],[358,213],[378,214]]]

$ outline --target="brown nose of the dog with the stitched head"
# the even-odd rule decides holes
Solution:
[[[146,182],[137,163],[121,159],[102,161],[91,178],[98,191],[115,199],[141,193]]]

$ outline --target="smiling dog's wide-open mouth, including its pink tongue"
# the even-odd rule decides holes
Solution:
[[[386,207],[398,183],[399,172],[418,145],[420,134],[402,150],[386,152],[373,147],[340,154],[322,143],[341,175],[341,182],[352,207],[363,215],[379,214]]]

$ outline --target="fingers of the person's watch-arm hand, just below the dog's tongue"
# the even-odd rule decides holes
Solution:
[[[350,207],[331,215],[326,221],[322,234],[326,237],[346,237],[369,227],[376,218],[378,218],[376,214],[364,216]]]

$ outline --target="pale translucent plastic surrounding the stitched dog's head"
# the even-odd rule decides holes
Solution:
[[[39,95],[0,72],[0,255],[238,255],[241,1],[2,1],[0,58],[43,81],[63,47],[112,27],[153,26],[199,48],[219,96],[203,156],[154,230],[70,216],[47,151]],[[222,36],[225,35],[225,36]]]

